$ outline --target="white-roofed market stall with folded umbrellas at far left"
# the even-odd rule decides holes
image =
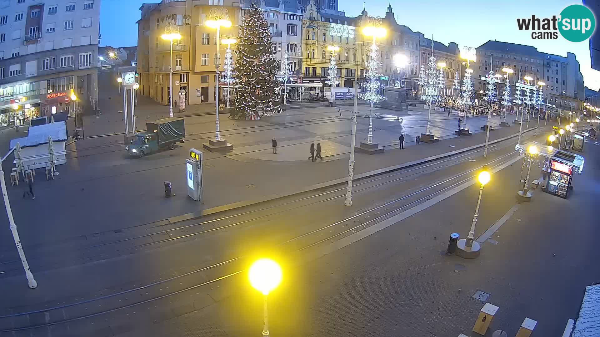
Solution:
[[[67,163],[66,142],[66,122],[62,121],[30,127],[27,137],[10,141],[9,150],[19,143],[20,151],[13,163],[23,172]]]

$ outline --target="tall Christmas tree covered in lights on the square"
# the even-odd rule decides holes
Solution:
[[[280,84],[275,76],[280,63],[274,58],[271,33],[265,16],[256,4],[246,11],[236,43],[235,109],[238,118],[260,119],[281,112]]]

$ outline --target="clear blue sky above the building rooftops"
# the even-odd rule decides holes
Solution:
[[[340,8],[347,16],[357,16],[362,11],[362,2],[339,0]],[[159,0],[103,0],[100,8],[101,46],[127,47],[137,45],[137,24],[140,5]],[[365,5],[370,16],[385,16],[388,2],[368,1]],[[410,4],[410,5],[409,5]],[[394,1],[392,8],[396,21],[419,31],[434,40],[458,46],[479,47],[488,40],[526,44],[540,52],[566,56],[574,53],[580,63],[584,83],[591,89],[600,89],[600,71],[590,68],[589,42],[569,42],[559,34],[558,40],[533,40],[530,32],[519,31],[517,18],[545,18],[559,15],[568,5],[581,4],[581,0],[503,0],[494,2],[481,0],[418,0],[416,2]],[[490,7],[493,11],[490,11]],[[122,13],[115,16],[115,13]],[[119,24],[113,24],[119,20]],[[596,18],[596,29],[600,18]]]

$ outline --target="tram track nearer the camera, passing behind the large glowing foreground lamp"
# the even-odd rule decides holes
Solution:
[[[490,161],[490,163],[487,163],[487,165],[489,166],[490,169],[494,169],[496,167],[502,166],[503,164],[506,164],[509,161],[511,161],[510,156],[514,153],[515,152],[509,152],[508,154],[500,155],[500,157]],[[509,158],[505,160],[506,157],[509,157]],[[496,164],[494,164],[494,163],[496,163]],[[439,182],[433,183],[432,185],[428,185],[425,188],[421,188],[410,194],[403,195],[400,198],[395,198],[394,200],[388,201],[379,206],[371,207],[370,209],[361,211],[359,213],[356,213],[355,215],[347,216],[346,218],[344,218],[340,221],[336,221],[332,224],[328,224],[328,225],[316,228],[315,230],[308,231],[306,233],[302,233],[300,235],[292,237],[291,239],[283,240],[282,242],[278,243],[278,245],[284,246],[287,249],[291,249],[292,251],[304,251],[305,249],[319,245],[328,240],[337,239],[338,237],[343,236],[347,233],[350,233],[350,232],[356,233],[357,230],[358,231],[364,230],[364,228],[367,228],[368,225],[374,224],[383,218],[393,216],[395,213],[401,212],[402,210],[409,209],[413,205],[416,205],[425,199],[431,198],[437,194],[448,191],[449,189],[452,189],[455,186],[460,185],[461,183],[464,183],[470,179],[473,179],[475,174],[471,174],[471,173],[473,173],[474,171],[476,171],[478,169],[479,169],[479,166],[475,167],[474,169],[469,169],[469,170],[463,171],[460,174],[455,174],[451,177],[448,177],[448,179],[440,180]],[[448,183],[449,183],[449,185],[446,185]],[[442,188],[431,191],[431,189],[435,189],[438,186],[442,186]],[[431,193],[424,194],[424,192],[427,193],[428,191],[430,191]],[[411,197],[415,197],[415,196],[418,197],[416,200],[410,200]],[[376,214],[377,210],[385,209],[385,207],[392,206],[394,204],[399,203],[400,201],[405,201],[405,200],[409,200],[410,202],[407,204],[403,204],[401,207],[396,207],[395,209],[389,210],[382,215],[377,215],[373,219],[369,219],[368,221],[361,221],[357,225],[353,225],[350,228],[340,230],[338,233],[327,234],[326,237],[324,237],[324,238],[314,239],[314,236],[317,233],[322,234],[323,231],[325,231],[325,230],[329,230],[332,227],[339,227],[338,225],[346,224],[353,220],[356,221],[356,219],[361,218],[362,216],[374,215],[374,214]],[[307,239],[310,239],[310,240],[308,240],[308,242],[307,242],[306,241]],[[302,241],[304,241],[304,242],[302,242]],[[294,245],[290,246],[290,243],[294,243]],[[0,332],[16,332],[16,331],[20,331],[20,330],[36,329],[36,328],[41,328],[41,327],[53,326],[56,324],[68,323],[68,322],[77,321],[77,320],[83,320],[83,319],[95,317],[98,315],[109,314],[111,312],[119,311],[122,309],[132,308],[133,306],[138,306],[138,305],[142,305],[145,303],[154,302],[154,301],[157,301],[160,299],[164,299],[166,297],[174,296],[176,294],[185,293],[186,291],[197,289],[199,287],[203,287],[204,285],[212,284],[214,282],[222,281],[223,279],[231,278],[232,276],[242,273],[244,271],[244,269],[239,269],[240,266],[234,266],[234,264],[241,264],[241,267],[243,267],[245,264],[242,262],[244,261],[245,258],[247,258],[247,256],[240,255],[238,257],[235,257],[235,258],[232,258],[229,260],[221,261],[220,263],[213,263],[210,266],[206,266],[201,269],[192,270],[191,272],[184,273],[182,275],[173,276],[172,278],[167,278],[167,279],[164,279],[164,280],[161,280],[158,282],[146,284],[146,285],[136,287],[136,288],[131,288],[131,289],[128,289],[125,291],[120,291],[118,293],[109,294],[107,296],[95,297],[94,299],[89,299],[89,300],[85,300],[85,301],[81,301],[81,302],[69,303],[67,305],[54,306],[52,308],[44,308],[44,309],[38,309],[38,310],[33,310],[33,311],[28,311],[28,312],[20,312],[17,314],[2,315],[2,316],[0,316],[0,321],[11,320],[11,325],[10,325],[11,327],[6,328],[5,327],[6,325],[2,324],[2,326],[0,326]],[[229,267],[229,266],[232,266],[233,270],[220,270],[223,267]],[[115,297],[122,297],[123,295],[126,295],[126,294],[136,293],[136,292],[139,292],[140,290],[147,290],[148,288],[152,288],[157,285],[163,285],[163,284],[166,284],[167,282],[179,281],[180,279],[185,278],[186,276],[195,275],[199,272],[205,272],[207,270],[215,270],[216,272],[220,273],[220,275],[217,275],[216,277],[208,279],[208,281],[205,281],[205,282],[196,282],[195,284],[190,285],[189,287],[182,287],[182,288],[179,288],[178,290],[163,291],[162,294],[159,294],[157,296],[154,296],[154,294],[153,294],[152,296],[148,296],[149,298],[139,299],[139,300],[130,300],[129,303],[122,303],[122,300],[119,300],[118,302],[120,304],[115,305],[112,308],[106,308],[106,309],[98,310],[95,312],[86,312],[86,311],[89,311],[89,309],[87,307],[80,308],[81,306],[88,305],[89,303],[92,303],[92,302],[110,300]],[[181,284],[181,282],[180,282],[180,284]],[[146,294],[148,294],[148,293],[146,293]],[[133,296],[133,294],[132,294],[132,296]],[[139,294],[139,296],[142,296],[142,294]],[[132,297],[132,299],[137,299],[137,298],[138,297]],[[72,315],[72,317],[68,317],[69,314],[67,312],[68,311],[67,309],[74,311],[74,315]],[[65,311],[65,310],[67,310],[67,311]],[[29,316],[29,315],[39,315],[39,314],[43,314],[44,317],[48,317],[51,319],[54,317],[54,315],[50,314],[51,312],[61,312],[61,315],[58,315],[58,316],[60,316],[62,318],[59,318],[55,321],[46,321],[46,323],[43,323],[43,324],[29,324],[29,325],[23,325],[20,327],[19,326],[15,327],[12,322],[12,320],[17,317],[23,317],[23,316]]]

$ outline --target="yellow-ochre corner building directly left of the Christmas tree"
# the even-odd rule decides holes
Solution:
[[[214,1],[214,2],[213,2]],[[221,45],[217,53],[217,31],[205,26],[206,20],[227,17],[231,28],[221,28],[221,39],[236,37],[241,23],[239,5],[230,0],[162,1],[160,4],[143,4],[142,19],[138,23],[137,72],[142,95],[161,104],[169,104],[169,66],[173,68],[173,100],[180,90],[186,92],[187,104],[215,102],[216,64],[221,64],[227,46]],[[170,41],[161,35],[166,26],[176,26],[181,40],[173,41],[173,58],[170,59]],[[221,94],[221,97],[223,95]]]

